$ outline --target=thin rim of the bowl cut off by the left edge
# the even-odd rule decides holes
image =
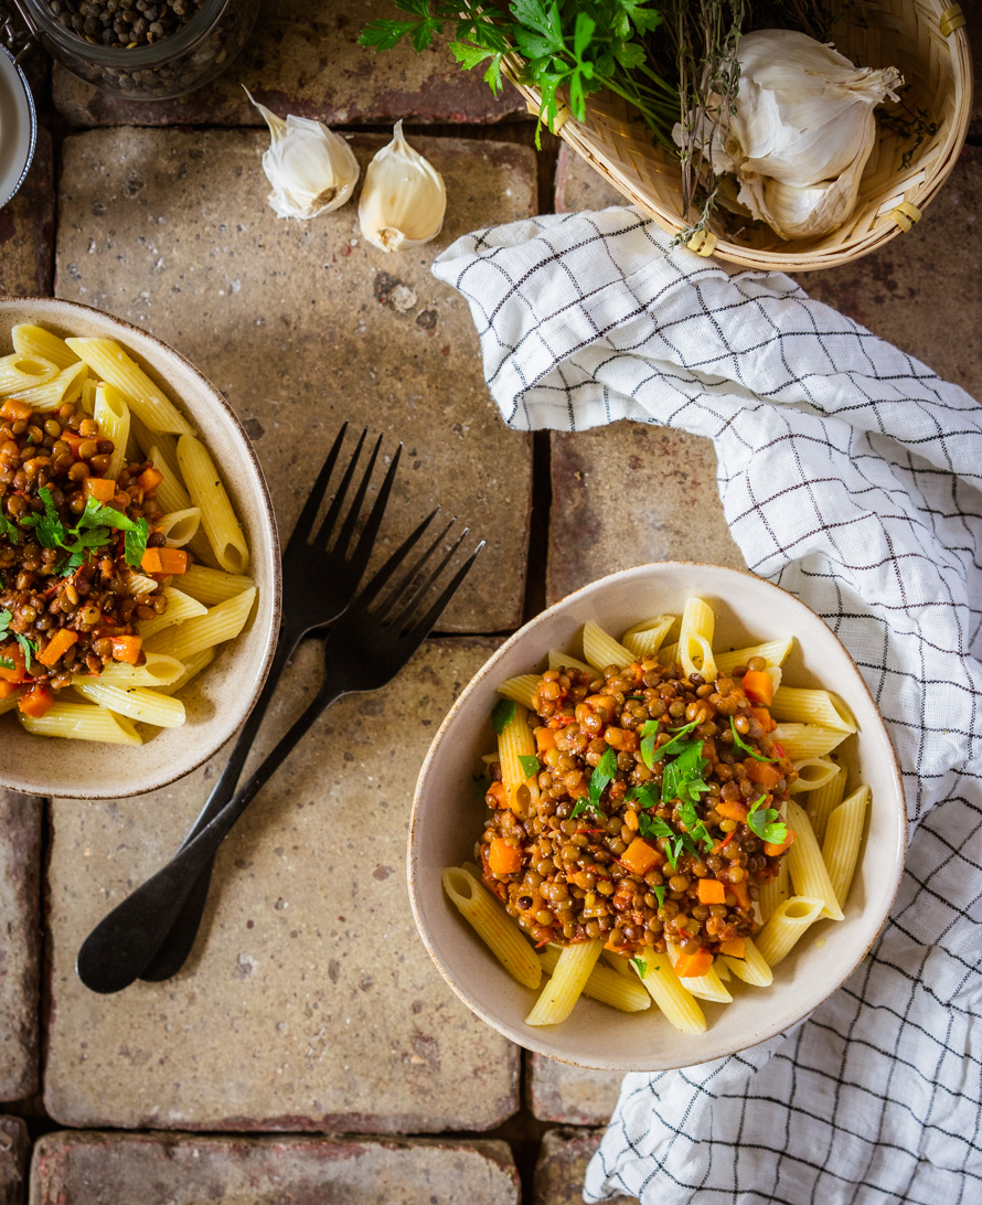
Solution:
[[[269,486],[266,484],[266,477],[265,474],[263,472],[263,468],[259,464],[259,458],[255,454],[255,448],[252,446],[252,440],[248,437],[248,435],[246,434],[246,429],[239,421],[239,416],[235,413],[229,402],[225,400],[220,389],[218,389],[217,386],[214,386],[199,368],[192,364],[192,362],[186,355],[182,355],[181,352],[171,347],[170,343],[164,342],[163,339],[159,339],[157,335],[151,334],[151,331],[145,330],[142,327],[137,327],[135,323],[127,322],[125,318],[117,318],[116,315],[107,313],[105,310],[96,310],[95,306],[82,305],[80,301],[67,301],[64,300],[63,298],[43,298],[43,296],[28,296],[28,295],[0,296],[0,313],[4,313],[8,310],[19,310],[23,308],[24,306],[39,307],[39,310],[47,310],[53,319],[55,319],[55,316],[59,312],[63,312],[64,307],[67,307],[69,311],[78,311],[80,313],[84,315],[95,315],[98,319],[107,322],[112,327],[118,328],[124,335],[135,334],[139,339],[149,340],[149,342],[154,343],[165,355],[172,355],[177,360],[180,360],[182,368],[186,371],[188,371],[192,376],[198,378],[200,384],[211,395],[211,399],[214,402],[217,402],[218,408],[224,413],[225,418],[228,418],[228,421],[230,422],[235,434],[239,436],[242,443],[242,447],[246,452],[246,458],[248,459],[249,464],[252,465],[252,469],[255,472],[255,480],[259,486],[259,494],[257,498],[257,502],[261,505],[257,505],[255,512],[259,517],[260,523],[266,524],[270,535],[270,552],[271,552],[270,559],[272,562],[272,582],[270,593],[272,595],[271,599],[272,612],[270,617],[271,639],[267,642],[266,648],[263,653],[261,663],[259,665],[259,672],[257,674],[255,677],[254,688],[253,690],[249,692],[249,698],[246,704],[246,710],[242,713],[242,718],[240,719],[240,722],[235,725],[233,731],[228,733],[227,736],[223,737],[217,745],[214,745],[213,748],[208,747],[207,745],[202,745],[200,748],[195,745],[190,745],[190,748],[193,750],[193,752],[190,753],[192,759],[187,764],[182,765],[176,772],[171,772],[170,770],[164,770],[160,776],[154,775],[153,782],[148,783],[147,786],[140,786],[139,789],[129,788],[127,783],[122,783],[125,794],[145,795],[152,790],[160,790],[163,787],[169,787],[172,782],[177,782],[178,778],[186,777],[187,775],[196,770],[199,766],[204,765],[204,763],[207,762],[210,758],[214,757],[214,754],[222,748],[222,746],[235,735],[239,728],[241,728],[241,725],[248,718],[249,712],[255,706],[255,703],[259,699],[259,695],[261,694],[264,686],[266,684],[266,677],[269,676],[270,666],[272,665],[274,653],[276,652],[276,639],[280,631],[280,621],[283,609],[283,572],[282,572],[282,564],[280,556],[280,533],[276,525],[276,513],[272,509],[272,500],[270,498]],[[130,353],[135,352],[136,357],[142,359],[142,355],[140,354],[139,351],[136,351],[133,347],[133,345],[128,345],[127,349]],[[157,369],[154,369],[154,372],[157,372]],[[5,780],[0,780],[0,788],[24,792],[27,794],[35,794],[35,795],[45,794],[45,792],[39,792],[39,788],[35,784],[25,783],[23,781],[20,782],[6,781],[6,776]],[[101,789],[80,787],[78,789],[75,789],[71,794],[72,799],[117,799],[118,797],[119,797],[119,790],[116,788],[101,790]]]

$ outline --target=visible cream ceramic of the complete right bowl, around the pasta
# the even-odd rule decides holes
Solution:
[[[472,775],[494,748],[489,713],[495,688],[546,665],[549,648],[580,654],[578,634],[594,619],[615,635],[647,615],[681,613],[698,594],[717,616],[718,649],[787,634],[796,637],[784,666],[794,686],[827,686],[852,709],[858,737],[840,747],[849,788],[868,782],[872,806],[846,918],[815,924],[775,970],[774,984],[730,984],[734,1001],[700,1001],[708,1029],[680,1034],[652,1006],[622,1013],[582,998],[559,1025],[530,1028],[523,1018],[536,998],[498,964],[443,895],[440,871],[474,858],[487,807]],[[855,969],[889,912],[906,850],[900,774],[886,728],[859,671],[825,623],[792,594],[751,574],[715,565],[669,562],[641,565],[586,586],[525,624],[463,690],[430,747],[413,803],[408,880],[413,915],[440,972],[464,1004],[527,1050],[580,1066],[611,1071],[664,1071],[721,1058],[788,1029],[807,1016]]]

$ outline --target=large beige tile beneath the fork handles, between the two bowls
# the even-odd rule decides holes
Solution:
[[[139,799],[52,803],[52,1117],[127,1129],[425,1133],[488,1129],[518,1107],[518,1051],[440,978],[405,878],[423,756],[494,647],[431,641],[386,690],[321,718],[222,846],[206,940],[166,983],[94,995],[75,956],[177,848],[216,764]],[[310,699],[318,662],[319,645],[304,646],[253,758]]]

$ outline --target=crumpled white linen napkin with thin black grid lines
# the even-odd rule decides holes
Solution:
[[[982,408],[789,277],[672,248],[631,208],[478,231],[434,272],[510,425],[715,441],[747,564],[841,637],[906,790],[870,956],[792,1031],[628,1075],[584,1199],[982,1200]]]

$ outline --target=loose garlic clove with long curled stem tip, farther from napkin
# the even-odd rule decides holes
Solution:
[[[323,122],[271,113],[246,95],[270,128],[263,171],[272,184],[269,202],[280,218],[316,218],[343,205],[358,183],[359,167],[348,143]]]

